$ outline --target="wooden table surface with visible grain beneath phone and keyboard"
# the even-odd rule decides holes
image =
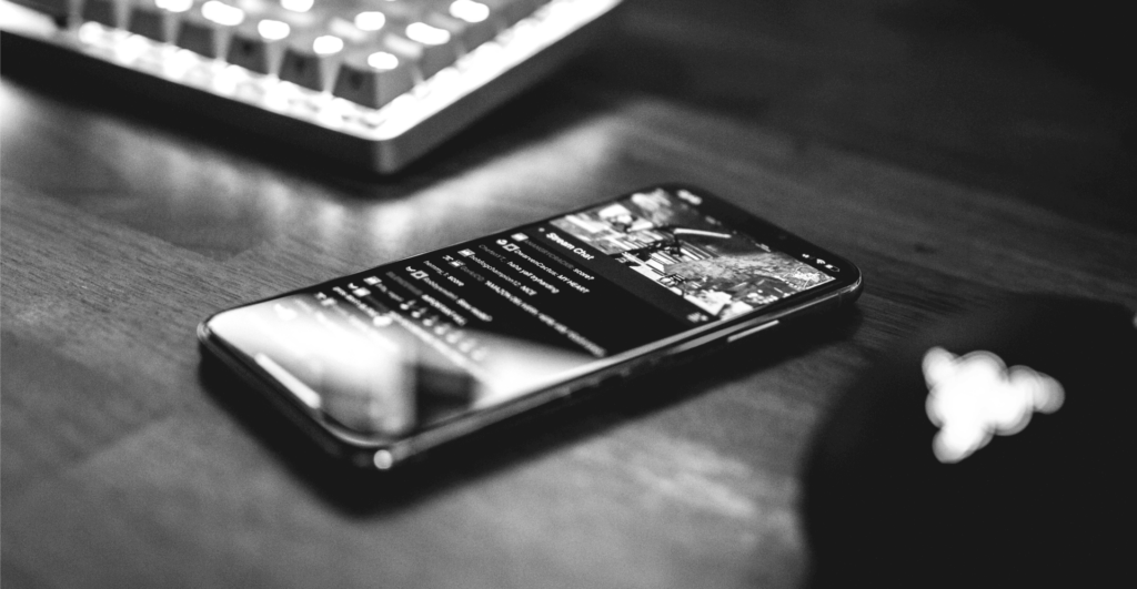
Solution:
[[[800,584],[802,458],[873,354],[1007,293],[1137,308],[1131,95],[1029,36],[946,0],[630,0],[391,178],[5,75],[5,586]],[[362,500],[201,369],[213,311],[661,180],[864,295]]]

